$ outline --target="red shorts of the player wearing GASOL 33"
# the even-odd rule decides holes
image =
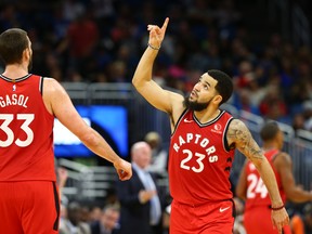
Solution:
[[[0,182],[1,233],[57,234],[58,213],[54,182]]]

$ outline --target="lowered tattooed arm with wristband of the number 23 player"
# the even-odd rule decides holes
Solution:
[[[272,208],[282,207],[284,204],[278,192],[273,169],[245,123],[238,119],[233,120],[229,127],[226,136],[229,144],[235,144],[236,148],[256,166],[268,188]],[[278,229],[278,232],[282,233],[282,227],[289,223],[286,209],[272,210],[272,222]]]

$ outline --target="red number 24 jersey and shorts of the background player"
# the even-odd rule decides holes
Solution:
[[[273,161],[278,157],[278,150],[271,150],[264,153],[275,173],[277,186],[283,203],[286,202],[286,195],[282,186],[281,176],[273,166]],[[266,186],[264,185],[259,172],[251,161],[246,165],[247,194],[244,212],[244,225],[247,233],[250,234],[278,234],[277,229],[273,227],[271,220],[271,199]],[[283,227],[284,234],[290,234],[289,225]]]

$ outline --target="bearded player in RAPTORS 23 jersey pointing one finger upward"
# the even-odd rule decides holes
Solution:
[[[170,233],[232,233],[234,207],[229,177],[235,148],[259,170],[275,209],[273,224],[281,231],[289,218],[269,161],[247,127],[219,108],[232,95],[231,78],[220,70],[208,70],[186,99],[164,90],[152,79],[153,64],[168,22],[166,18],[161,28],[147,26],[147,49],[132,83],[153,106],[170,116],[172,135],[168,168],[173,198]]]

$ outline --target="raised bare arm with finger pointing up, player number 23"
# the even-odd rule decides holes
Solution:
[[[156,25],[147,26],[147,30],[150,31],[148,46],[138,64],[132,83],[138,92],[153,106],[172,114],[173,103],[182,104],[183,96],[164,90],[152,79],[153,64],[165,38],[169,18],[167,17],[161,28]]]

